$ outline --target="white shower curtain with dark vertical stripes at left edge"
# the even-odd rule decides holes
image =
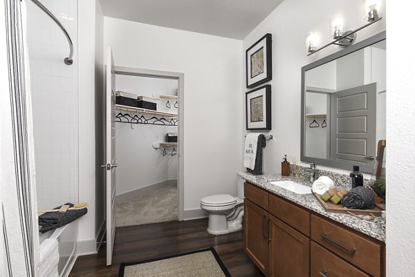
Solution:
[[[38,264],[26,16],[20,5],[0,1],[0,276],[37,276]]]

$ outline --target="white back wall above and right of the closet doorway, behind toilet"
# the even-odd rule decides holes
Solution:
[[[107,17],[104,30],[116,66],[184,73],[185,211],[199,210],[206,195],[235,195],[243,137],[242,41]]]

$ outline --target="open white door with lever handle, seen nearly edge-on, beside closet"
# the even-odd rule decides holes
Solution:
[[[111,265],[114,238],[116,236],[116,76],[111,47],[107,48],[105,88],[105,160],[106,170],[106,218],[107,218],[107,265]]]

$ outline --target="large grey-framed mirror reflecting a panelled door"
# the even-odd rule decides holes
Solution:
[[[302,68],[301,160],[371,173],[386,140],[386,32]]]

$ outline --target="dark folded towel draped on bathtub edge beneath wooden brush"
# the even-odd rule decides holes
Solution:
[[[66,203],[69,207],[73,207],[72,203]],[[60,207],[56,207],[55,209],[59,209]],[[39,216],[39,225],[42,226],[40,228],[41,233],[46,233],[47,231],[62,227],[67,225],[68,223],[73,222],[77,218],[84,216],[88,212],[88,209],[78,209],[78,210],[68,210],[66,213],[59,213],[57,211],[53,211],[51,213],[43,213]]]

